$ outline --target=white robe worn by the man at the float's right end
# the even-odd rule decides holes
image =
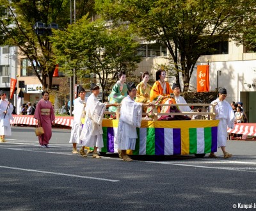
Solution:
[[[220,101],[219,98],[212,101],[211,104],[217,103],[215,106],[216,120],[220,120],[218,125],[218,148],[226,146],[227,143],[227,127],[234,128],[235,114],[231,105],[226,101]]]

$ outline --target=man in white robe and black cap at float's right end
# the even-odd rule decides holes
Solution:
[[[226,151],[227,127],[233,129],[235,122],[234,111],[231,105],[225,100],[226,97],[227,90],[225,88],[220,88],[219,97],[211,102],[211,104],[216,104],[213,112],[216,113],[216,120],[220,120],[220,123],[218,124],[217,143],[218,148],[221,148],[225,159],[232,157],[232,154]],[[214,152],[211,152],[209,157],[215,158],[217,156],[214,154]]]

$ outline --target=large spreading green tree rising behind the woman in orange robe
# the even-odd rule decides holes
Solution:
[[[243,21],[248,13],[247,1],[241,0],[96,0],[95,8],[104,17],[129,22],[143,38],[164,43],[175,66],[184,79],[184,91],[198,58],[214,51],[211,44],[223,38]]]

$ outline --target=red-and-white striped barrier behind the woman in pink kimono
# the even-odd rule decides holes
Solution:
[[[13,120],[10,120],[10,123],[12,125],[36,125],[36,119],[32,115],[13,115]],[[56,116],[55,123],[71,127],[73,116]]]

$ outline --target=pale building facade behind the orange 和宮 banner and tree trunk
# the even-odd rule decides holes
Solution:
[[[139,64],[138,73],[148,71],[153,75],[156,65],[168,65],[168,52],[163,46],[141,43],[145,45],[144,52],[141,47],[138,54],[143,55],[143,61]],[[156,51],[156,52],[154,52]],[[166,53],[167,52],[167,53]],[[210,90],[216,90],[217,86],[227,89],[228,102],[243,102],[244,111],[249,122],[256,123],[256,53],[246,52],[243,45],[237,46],[234,42],[227,42],[225,47],[220,48],[219,54],[200,56],[197,65],[210,66]],[[189,84],[190,90],[196,90],[196,66]],[[168,81],[172,85],[175,78]],[[180,77],[182,86],[182,78]]]

